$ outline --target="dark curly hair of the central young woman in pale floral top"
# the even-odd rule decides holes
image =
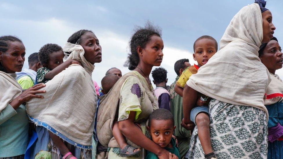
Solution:
[[[129,42],[130,54],[128,54],[127,61],[124,63],[124,67],[128,67],[129,70],[134,70],[139,63],[139,55],[137,53],[137,47],[145,48],[148,41],[151,40],[151,36],[157,35],[161,37],[161,29],[159,26],[154,26],[151,22],[147,22],[145,26],[136,27],[135,33],[131,37]]]

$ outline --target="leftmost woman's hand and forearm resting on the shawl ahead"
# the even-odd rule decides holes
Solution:
[[[21,104],[28,102],[31,98],[43,98],[37,95],[38,93],[45,93],[45,90],[38,90],[46,85],[39,83],[23,91],[17,98],[13,99],[9,104],[16,110]]]

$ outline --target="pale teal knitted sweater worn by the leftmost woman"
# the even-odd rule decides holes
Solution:
[[[28,145],[28,116],[26,106],[18,109],[8,104],[0,112],[0,158],[25,153]]]

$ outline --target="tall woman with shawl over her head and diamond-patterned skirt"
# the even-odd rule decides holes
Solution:
[[[268,112],[263,97],[270,82],[260,62],[261,43],[275,30],[272,15],[263,1],[243,7],[231,20],[220,49],[187,81],[184,88],[184,126],[190,124],[197,92],[211,98],[210,135],[217,158],[266,158]],[[212,152],[213,154],[213,152]],[[186,157],[204,158],[194,129]]]

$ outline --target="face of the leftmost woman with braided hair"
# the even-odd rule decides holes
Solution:
[[[19,41],[8,41],[8,50],[0,52],[0,62],[6,73],[21,72],[25,61],[26,48]]]

